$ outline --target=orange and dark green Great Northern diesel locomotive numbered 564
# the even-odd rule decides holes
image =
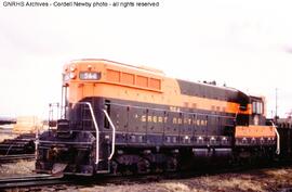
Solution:
[[[38,138],[38,172],[176,171],[274,158],[284,144],[267,123],[264,98],[144,66],[72,61],[64,66],[62,103],[56,128]]]

